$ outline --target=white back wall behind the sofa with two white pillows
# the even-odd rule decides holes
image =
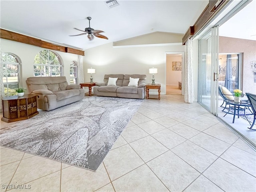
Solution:
[[[146,74],[147,83],[151,83],[152,75],[149,68],[158,68],[155,82],[161,84],[161,93],[166,93],[165,52],[184,52],[185,46],[143,46],[113,48],[112,43],[85,50],[84,69],[95,68],[95,82],[102,82],[104,74]],[[90,80],[90,74],[85,74],[85,81]],[[150,90],[151,93],[157,90]]]

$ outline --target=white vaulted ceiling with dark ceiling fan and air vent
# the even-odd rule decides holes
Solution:
[[[152,32],[184,34],[208,0],[118,0],[108,8],[101,0],[0,1],[0,28],[78,49],[88,49]],[[88,27],[102,30],[108,40],[76,35]]]

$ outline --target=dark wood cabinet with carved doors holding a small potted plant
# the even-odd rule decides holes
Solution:
[[[37,115],[37,95],[25,94],[22,97],[17,95],[3,98],[2,121],[10,123],[24,120]]]

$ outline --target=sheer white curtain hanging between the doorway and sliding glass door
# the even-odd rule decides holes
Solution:
[[[185,66],[184,66],[184,101],[193,103],[194,84],[193,84],[193,41],[188,39],[186,42]]]

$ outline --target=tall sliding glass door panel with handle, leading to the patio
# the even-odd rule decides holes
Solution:
[[[218,26],[199,39],[198,102],[218,112]]]

